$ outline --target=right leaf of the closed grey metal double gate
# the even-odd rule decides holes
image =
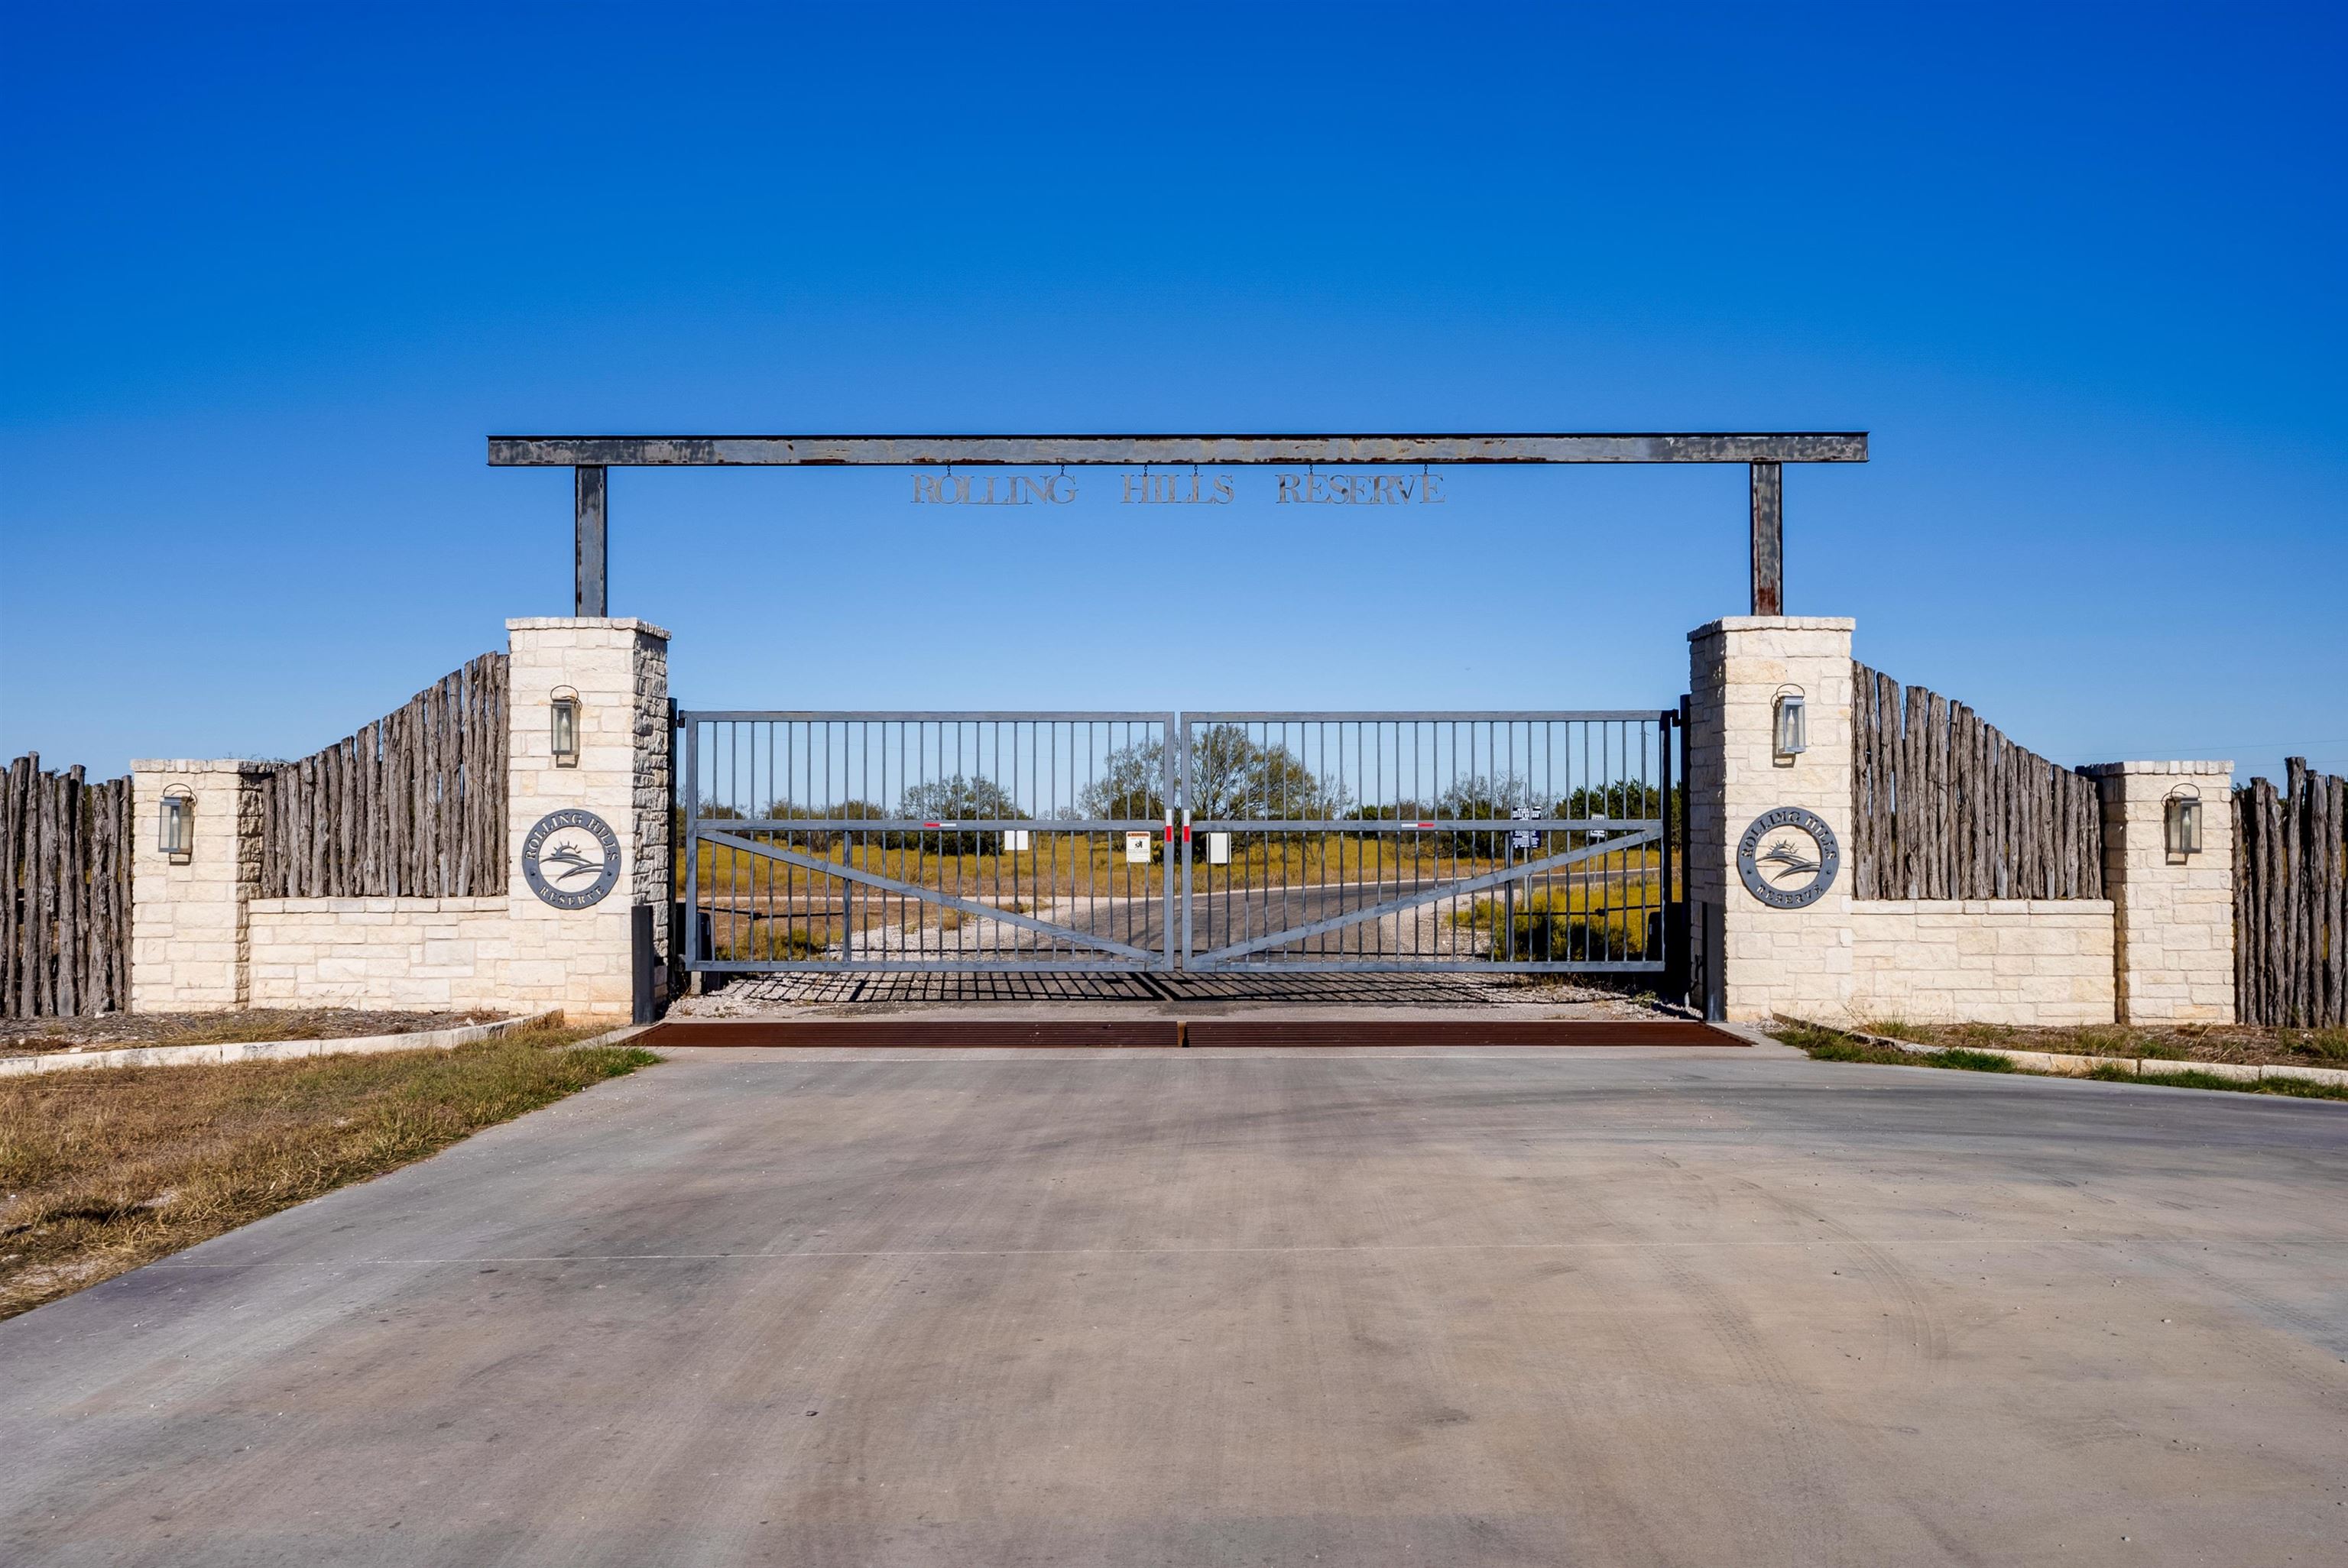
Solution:
[[[1186,714],[1183,969],[1662,974],[1674,721]]]

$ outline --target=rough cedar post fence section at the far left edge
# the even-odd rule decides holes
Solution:
[[[131,995],[131,782],[9,763],[0,791],[0,1016],[122,1012]]]

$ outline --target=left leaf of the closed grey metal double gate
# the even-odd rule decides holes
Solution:
[[[1172,714],[686,711],[679,728],[693,969],[1172,967]]]

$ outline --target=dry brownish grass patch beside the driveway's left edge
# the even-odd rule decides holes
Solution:
[[[0,1080],[0,1317],[657,1061],[582,1033]]]

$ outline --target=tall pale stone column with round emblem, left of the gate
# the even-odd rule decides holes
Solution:
[[[669,634],[634,617],[528,617],[505,622],[507,690],[507,911],[512,955],[505,993],[519,1007],[561,1007],[573,1023],[625,1023],[634,1000],[629,911],[653,904],[653,939],[667,946],[669,906]],[[580,756],[556,765],[549,704],[580,704]],[[564,826],[568,824],[568,826]],[[585,824],[585,826],[582,826]],[[610,831],[606,847],[594,831]],[[533,840],[533,833],[547,829]],[[528,880],[533,843],[542,897]],[[603,883],[582,864],[618,854]]]

